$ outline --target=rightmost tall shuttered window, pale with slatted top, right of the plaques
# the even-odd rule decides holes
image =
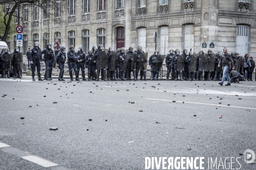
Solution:
[[[249,27],[236,26],[236,52],[244,56],[248,54]]]

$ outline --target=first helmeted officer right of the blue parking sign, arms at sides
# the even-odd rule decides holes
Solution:
[[[40,73],[40,68],[41,68],[40,64],[43,62],[43,59],[42,59],[41,49],[39,48],[39,42],[35,42],[35,46],[31,50],[29,54],[29,58],[30,58],[31,71],[32,71],[32,80],[35,81],[35,66],[36,66],[37,72],[38,72],[38,81],[44,81],[43,79],[41,79],[41,73]]]

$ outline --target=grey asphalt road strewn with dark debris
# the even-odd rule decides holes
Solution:
[[[23,77],[0,79],[0,93],[1,170],[143,170],[145,157],[204,157],[205,169],[208,158],[240,157],[241,170],[256,169],[241,155],[256,152],[255,81]]]

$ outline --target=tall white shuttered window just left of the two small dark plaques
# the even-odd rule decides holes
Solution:
[[[184,26],[184,48],[187,51],[194,51],[194,25],[185,25]]]

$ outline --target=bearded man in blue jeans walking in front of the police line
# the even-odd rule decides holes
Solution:
[[[225,78],[227,77],[227,85],[230,84],[230,77],[228,75],[228,70],[229,70],[229,62],[231,62],[231,68],[232,70],[235,69],[232,57],[229,53],[227,53],[227,48],[223,49],[223,57],[219,60],[218,67],[220,67],[222,62],[222,69],[223,69],[223,76],[221,82],[219,82],[219,85],[223,85]]]

